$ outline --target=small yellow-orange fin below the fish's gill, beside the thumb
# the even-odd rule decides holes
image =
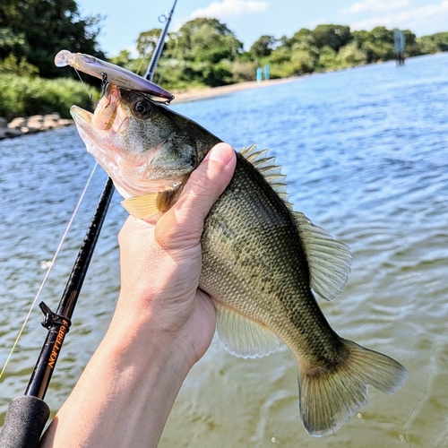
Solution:
[[[166,190],[164,192],[142,194],[125,199],[121,202],[123,207],[134,218],[145,220],[156,213],[167,211],[179,194],[179,188]]]

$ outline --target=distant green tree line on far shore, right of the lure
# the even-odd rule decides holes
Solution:
[[[448,50],[448,32],[417,38],[404,30],[406,56]],[[123,50],[112,61],[138,72],[157,41],[159,30],[137,39],[139,57]],[[171,89],[195,85],[211,87],[254,80],[257,67],[269,65],[271,78],[299,76],[372,64],[395,58],[393,30],[350,30],[345,25],[302,28],[293,36],[263,35],[247,51],[227,25],[217,19],[198,18],[168,33],[156,82]]]

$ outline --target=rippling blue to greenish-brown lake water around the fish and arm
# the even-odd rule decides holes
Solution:
[[[235,148],[271,149],[290,201],[347,243],[349,285],[320,303],[344,338],[401,361],[407,383],[336,435],[306,435],[297,365],[283,347],[244,360],[213,340],[194,366],[160,447],[448,446],[448,54],[396,67],[323,73],[226,97],[173,105]],[[0,142],[0,368],[13,346],[94,161],[74,126]],[[40,300],[56,308],[106,181],[93,177]],[[55,412],[114,311],[115,194],[46,401]],[[46,331],[35,309],[0,381],[0,423],[22,395]]]

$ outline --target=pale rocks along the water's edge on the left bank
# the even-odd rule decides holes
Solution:
[[[59,114],[34,115],[14,118],[11,123],[0,117],[0,140],[20,137],[25,134],[40,133],[73,125],[73,120],[61,118]]]

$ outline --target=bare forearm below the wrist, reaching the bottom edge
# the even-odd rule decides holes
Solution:
[[[157,446],[192,361],[171,335],[140,337],[139,325],[112,323],[41,447]]]

